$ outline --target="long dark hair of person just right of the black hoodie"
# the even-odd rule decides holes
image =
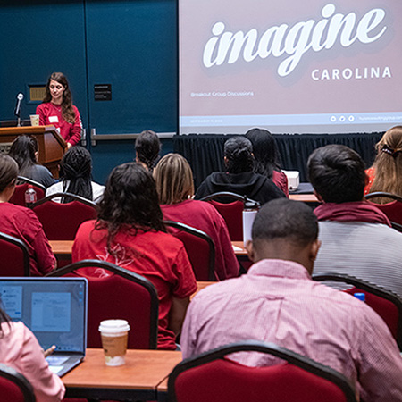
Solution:
[[[251,129],[246,133],[253,144],[255,157],[254,172],[264,174],[272,179],[273,171],[281,171],[279,151],[272,134],[264,129]]]

